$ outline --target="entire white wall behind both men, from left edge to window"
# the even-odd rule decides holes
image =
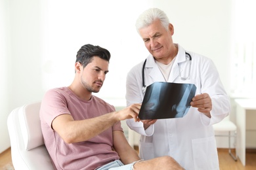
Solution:
[[[175,42],[213,59],[229,92],[232,0],[0,2],[0,152],[10,145],[9,112],[40,100],[49,88],[68,86],[76,52],[83,44],[98,44],[112,53],[110,73],[97,95],[124,99],[127,71],[148,54],[134,27],[137,16],[148,7],[167,13]]]

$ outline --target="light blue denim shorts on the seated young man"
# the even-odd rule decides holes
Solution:
[[[103,165],[102,167],[99,167],[95,170],[133,170],[133,165],[137,161],[134,161],[133,163],[129,163],[127,165],[123,165],[123,163],[120,160],[112,161],[106,165]]]

